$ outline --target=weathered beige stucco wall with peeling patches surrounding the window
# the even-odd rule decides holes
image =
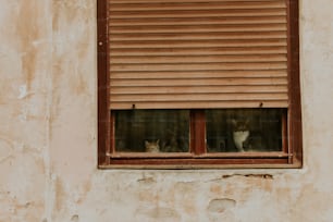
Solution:
[[[100,171],[96,1],[0,0],[0,221],[333,221],[333,1],[299,1],[304,169]]]

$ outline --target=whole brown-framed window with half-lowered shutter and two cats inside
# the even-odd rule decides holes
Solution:
[[[100,168],[299,168],[297,0],[98,0]]]

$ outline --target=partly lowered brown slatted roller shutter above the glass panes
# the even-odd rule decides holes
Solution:
[[[108,0],[110,109],[286,108],[286,0]]]

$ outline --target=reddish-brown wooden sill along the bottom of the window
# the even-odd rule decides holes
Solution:
[[[199,157],[199,158],[110,158],[99,169],[151,169],[151,170],[192,170],[192,169],[300,169],[301,161],[284,157]]]

